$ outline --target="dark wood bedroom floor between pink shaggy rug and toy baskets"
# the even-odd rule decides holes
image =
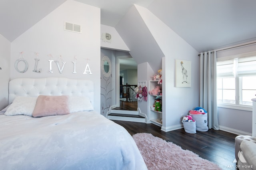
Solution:
[[[126,128],[131,135],[143,132],[151,133],[168,142],[173,142],[185,150],[191,150],[201,158],[218,164],[224,170],[237,169],[236,163],[233,163],[235,159],[234,139],[237,136],[236,134],[213,129],[207,132],[197,131],[196,134],[188,134],[183,128],[164,132],[154,124],[127,121],[114,122]]]

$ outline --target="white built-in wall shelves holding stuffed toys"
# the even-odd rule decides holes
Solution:
[[[157,85],[160,86],[160,89],[162,90],[162,85],[158,84],[158,81],[150,81],[150,89],[152,90],[154,89]],[[151,109],[151,106],[154,105],[155,103],[155,99],[158,95],[150,95],[149,97],[149,102],[150,102],[150,121],[157,126],[162,127],[162,122],[160,122],[159,120],[162,120],[162,111],[155,111],[154,109]],[[159,95],[159,99],[162,100],[162,95]]]

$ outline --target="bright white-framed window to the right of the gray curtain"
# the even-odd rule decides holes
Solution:
[[[217,61],[218,106],[252,107],[256,98],[256,57],[231,57]]]

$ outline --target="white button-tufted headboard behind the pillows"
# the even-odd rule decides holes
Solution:
[[[16,96],[38,97],[39,95],[87,96],[94,105],[94,85],[91,80],[64,77],[18,78],[9,82],[8,104]]]

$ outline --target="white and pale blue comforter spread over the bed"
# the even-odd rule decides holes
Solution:
[[[147,169],[132,136],[93,111],[41,118],[0,115],[0,167]]]

